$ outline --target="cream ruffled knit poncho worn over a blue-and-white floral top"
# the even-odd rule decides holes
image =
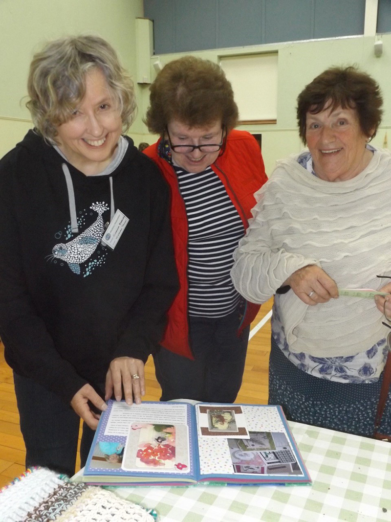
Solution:
[[[297,162],[277,163],[255,194],[258,203],[234,253],[235,288],[253,303],[271,298],[306,265],[317,265],[339,288],[379,289],[391,275],[391,155],[375,149],[351,180],[319,179]],[[289,290],[275,296],[289,349],[314,357],[369,350],[387,328],[373,299],[340,296],[308,306]]]

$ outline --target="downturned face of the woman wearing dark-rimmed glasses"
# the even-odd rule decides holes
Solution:
[[[208,145],[218,144],[222,138],[222,122],[216,121],[204,127],[188,127],[178,120],[172,120],[167,125],[172,145]],[[201,152],[194,149],[192,152],[182,153],[171,151],[173,162],[188,172],[199,173],[204,171],[218,158],[220,151]]]

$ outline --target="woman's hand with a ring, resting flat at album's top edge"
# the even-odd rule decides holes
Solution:
[[[113,359],[106,374],[105,400],[112,397],[122,399],[122,390],[126,404],[133,404],[133,396],[136,404],[140,404],[141,397],[145,395],[144,363],[141,359],[132,357],[117,357]]]

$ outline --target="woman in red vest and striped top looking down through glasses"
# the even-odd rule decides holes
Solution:
[[[171,190],[180,290],[154,355],[162,400],[234,402],[258,305],[235,290],[233,252],[265,183],[261,150],[233,130],[234,94],[217,65],[193,56],[168,63],[151,86],[146,124],[161,138],[144,150]]]

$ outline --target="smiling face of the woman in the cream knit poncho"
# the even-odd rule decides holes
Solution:
[[[313,168],[325,181],[345,181],[357,176],[372,158],[365,148],[368,136],[361,131],[356,109],[329,108],[307,113],[306,140]]]

